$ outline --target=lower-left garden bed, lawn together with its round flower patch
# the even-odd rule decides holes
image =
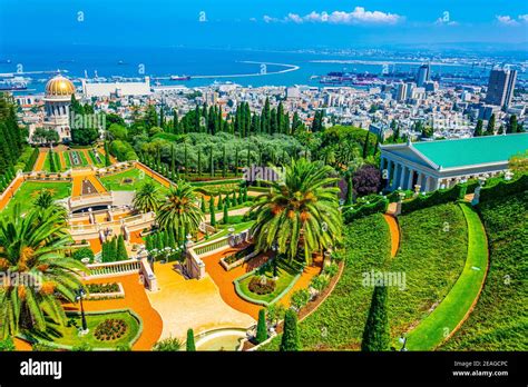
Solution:
[[[68,312],[65,327],[50,325],[46,333],[20,335],[30,343],[38,343],[53,349],[76,350],[79,347],[94,350],[116,350],[130,348],[141,335],[143,322],[130,309],[86,312],[88,334],[79,336],[82,327],[78,312]]]

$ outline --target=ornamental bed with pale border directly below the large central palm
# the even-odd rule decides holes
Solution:
[[[236,294],[248,302],[270,306],[278,301],[301,278],[303,265],[277,261],[277,277],[273,276],[273,259],[234,280]]]

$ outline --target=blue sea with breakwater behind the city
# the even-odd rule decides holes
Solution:
[[[361,63],[339,63],[339,62],[314,62],[329,60],[359,60]],[[255,63],[247,63],[247,61]],[[405,62],[405,63],[398,63]],[[266,63],[284,63],[297,66],[299,70],[284,73],[273,73],[285,70],[286,67]],[[211,85],[214,81],[232,81],[242,86],[292,86],[311,85],[320,86],[317,78],[313,76],[324,76],[330,71],[353,71],[381,73],[383,64],[388,62],[389,70],[412,71],[420,66],[419,61],[409,63],[410,60],[398,60],[383,57],[358,57],[344,54],[322,54],[312,52],[276,52],[256,50],[233,50],[233,49],[190,49],[190,48],[106,48],[91,46],[69,46],[62,48],[2,48],[0,51],[0,72],[21,71],[57,71],[66,72],[66,76],[76,80],[85,77],[110,78],[113,76],[127,78],[143,78],[150,76],[153,82],[162,85],[185,85],[188,87]],[[397,62],[397,63],[394,63]],[[394,63],[394,64],[392,64]],[[487,77],[490,67],[479,68],[471,66],[431,66],[434,73],[470,73]],[[255,75],[266,72],[266,76],[251,77],[215,77],[226,75]],[[187,81],[170,81],[167,78],[177,76],[213,76],[211,78],[195,78]],[[29,91],[39,92],[42,90],[45,81],[52,73],[29,75],[31,82],[28,85]],[[519,78],[525,75],[519,75]]]

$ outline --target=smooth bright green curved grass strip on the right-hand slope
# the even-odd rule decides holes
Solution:
[[[408,335],[410,350],[434,349],[465,318],[479,296],[488,266],[486,232],[478,214],[467,204],[461,204],[461,208],[468,224],[466,266],[442,302]]]

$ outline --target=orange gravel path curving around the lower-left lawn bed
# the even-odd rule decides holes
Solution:
[[[131,309],[143,320],[143,333],[134,344],[134,350],[150,350],[162,336],[163,321],[159,314],[151,307],[144,286],[139,284],[139,275],[131,274],[110,278],[98,278],[86,281],[86,284],[121,282],[125,289],[125,298],[107,299],[100,301],[84,301],[85,309],[89,311]],[[66,305],[67,310],[77,310],[78,305]],[[89,317],[88,317],[89,318]]]

